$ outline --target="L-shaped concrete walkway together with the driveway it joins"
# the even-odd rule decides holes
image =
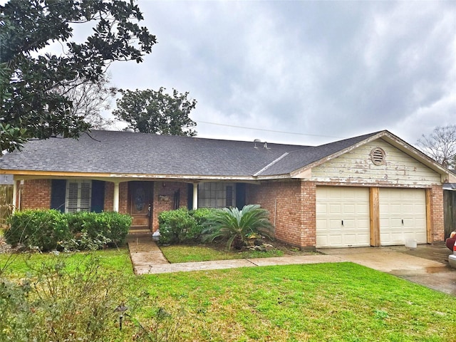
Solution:
[[[451,252],[444,247],[432,245],[418,246],[413,251],[403,246],[319,249],[320,254],[306,256],[198,261],[182,264],[170,264],[157,244],[152,241],[150,234],[130,235],[128,247],[135,274],[351,261],[456,296],[456,270],[452,269],[447,262],[445,264],[445,259]]]

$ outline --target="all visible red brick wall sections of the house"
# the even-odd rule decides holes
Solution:
[[[18,182],[19,184],[19,182]],[[163,187],[165,184],[165,187]],[[332,184],[331,184],[332,185]],[[128,182],[119,185],[119,212],[128,213]],[[51,180],[25,180],[19,188],[21,209],[48,209],[51,206]],[[187,207],[188,187],[183,182],[154,182],[152,230],[158,228],[158,215],[174,207],[174,193],[180,190],[180,207]],[[105,211],[113,210],[114,183],[105,183]],[[260,204],[275,224],[276,239],[298,247],[316,245],[316,184],[293,180],[247,185],[247,204]],[[443,190],[430,190],[431,242],[445,239]]]

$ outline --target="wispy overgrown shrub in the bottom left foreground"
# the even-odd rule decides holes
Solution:
[[[0,341],[113,341],[119,274],[92,256],[69,268],[61,257],[35,265],[23,284],[0,281]]]

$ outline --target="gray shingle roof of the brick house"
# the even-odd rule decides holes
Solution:
[[[134,175],[252,177],[287,175],[378,133],[310,147],[120,131],[78,140],[31,140],[0,158],[0,170]]]

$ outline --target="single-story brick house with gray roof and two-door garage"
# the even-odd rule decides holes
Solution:
[[[18,209],[115,210],[132,232],[155,231],[163,210],[261,204],[298,247],[443,241],[442,185],[456,182],[386,130],[316,147],[93,131],[28,142],[0,174]]]

